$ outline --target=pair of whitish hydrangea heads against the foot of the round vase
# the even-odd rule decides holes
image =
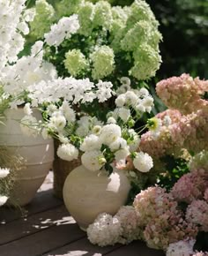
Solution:
[[[87,237],[94,245],[129,244],[141,237],[138,217],[134,207],[121,207],[115,216],[98,215],[87,229]]]

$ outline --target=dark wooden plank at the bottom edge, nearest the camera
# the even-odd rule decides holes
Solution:
[[[55,255],[70,255],[70,256],[80,256],[80,255],[103,255],[107,252],[112,252],[116,248],[122,245],[115,246],[104,246],[99,247],[98,245],[93,245],[85,237],[78,241],[71,243],[70,245],[65,245],[55,251],[50,251],[43,256],[55,256]]]

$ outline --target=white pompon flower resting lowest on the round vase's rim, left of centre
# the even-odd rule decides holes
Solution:
[[[81,156],[81,161],[86,169],[92,171],[100,169],[106,162],[104,155],[101,153],[100,150],[86,151]]]

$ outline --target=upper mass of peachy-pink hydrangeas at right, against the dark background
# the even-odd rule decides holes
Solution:
[[[181,156],[184,148],[194,154],[208,150],[208,101],[200,98],[208,91],[208,80],[182,74],[179,78],[160,81],[156,90],[170,109],[156,116],[163,124],[160,136],[155,139],[151,132],[146,132],[141,137],[139,150],[150,154],[153,169],[161,171],[164,168],[161,158],[167,154]],[[171,124],[165,124],[166,117]]]

